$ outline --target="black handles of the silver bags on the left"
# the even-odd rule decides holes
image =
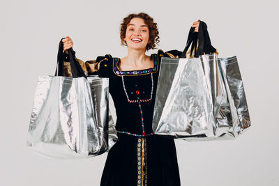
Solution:
[[[57,65],[56,65],[56,71],[55,76],[63,76],[63,68],[64,68],[64,61],[63,61],[63,40],[62,38],[59,42],[59,49],[57,54]],[[70,59],[70,71],[72,72],[73,77],[85,77],[86,75],[84,71],[82,70],[82,66],[75,58],[75,54],[73,52],[73,48],[68,49],[68,56]],[[86,78],[87,79],[87,78]]]

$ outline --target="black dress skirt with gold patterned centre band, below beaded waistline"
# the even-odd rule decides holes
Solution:
[[[119,134],[107,155],[101,186],[179,186],[174,139]]]

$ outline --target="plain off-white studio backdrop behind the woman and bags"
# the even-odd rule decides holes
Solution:
[[[181,185],[279,185],[278,7],[276,0],[1,0],[0,185],[100,184],[107,153],[49,160],[25,146],[36,82],[38,75],[54,75],[59,40],[65,36],[73,38],[84,61],[125,56],[121,21],[140,12],[158,23],[158,49],[182,50],[190,26],[200,19],[219,56],[239,60],[252,127],[231,141],[176,140]]]

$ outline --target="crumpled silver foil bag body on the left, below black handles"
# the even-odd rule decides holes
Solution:
[[[117,135],[108,109],[108,78],[40,76],[27,146],[46,157],[86,158],[107,152]]]

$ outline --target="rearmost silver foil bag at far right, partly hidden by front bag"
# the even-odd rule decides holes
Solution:
[[[236,56],[218,58],[218,66],[227,93],[216,117],[218,127],[225,129],[218,139],[234,139],[251,126],[246,94]]]

